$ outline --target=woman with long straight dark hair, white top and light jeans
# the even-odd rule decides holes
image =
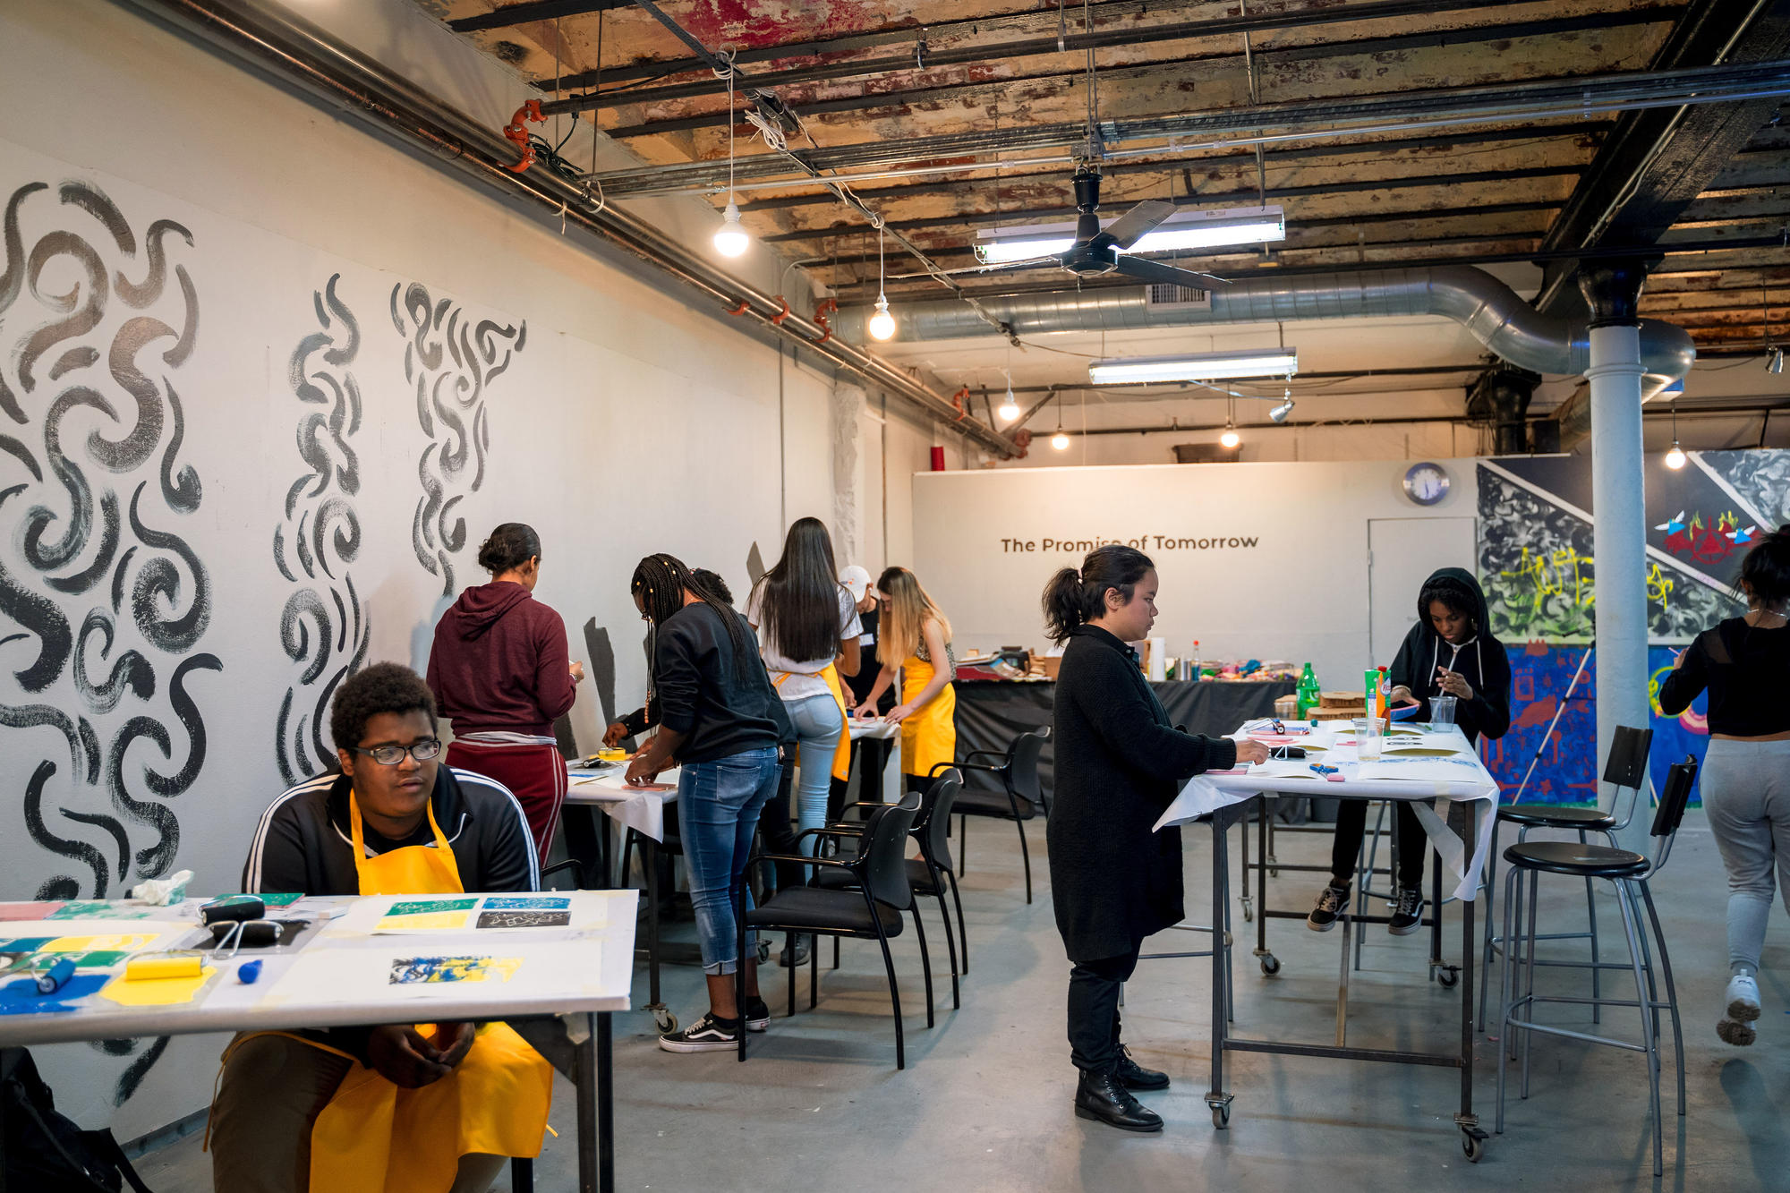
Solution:
[[[759,650],[771,686],[782,697],[784,711],[795,725],[800,749],[800,783],[795,786],[797,826],[814,829],[827,817],[827,786],[834,756],[845,738],[845,699],[840,675],[856,675],[859,666],[857,602],[840,584],[832,562],[832,537],[818,518],[800,518],[784,537],[784,554],[752,589],[746,622],[759,631]],[[788,806],[768,815],[768,844],[777,853],[788,833]],[[814,838],[804,837],[802,853],[814,853]]]

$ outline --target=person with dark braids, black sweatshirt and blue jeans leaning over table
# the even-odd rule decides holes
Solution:
[[[779,699],[759,665],[746,620],[705,589],[671,555],[634,570],[634,604],[653,623],[653,715],[659,724],[628,763],[628,783],[652,783],[680,767],[677,785],[689,901],[696,912],[709,1014],[666,1032],[666,1051],[737,1048],[739,1032],[763,1032],[755,942],[737,951],[734,894],[752,854],[759,810],[777,790]],[[752,894],[746,892],[746,906]],[[734,1000],[734,971],[746,967],[746,1005]]]

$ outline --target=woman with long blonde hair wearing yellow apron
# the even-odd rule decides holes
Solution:
[[[900,768],[909,790],[924,790],[933,767],[958,760],[956,656],[950,648],[950,622],[933,602],[920,580],[906,568],[888,568],[877,577],[882,595],[877,657],[882,674],[857,708],[868,718],[882,691],[895,682],[900,659],[900,704],[888,720],[900,722]]]

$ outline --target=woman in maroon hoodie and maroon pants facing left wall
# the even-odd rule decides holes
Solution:
[[[566,650],[566,623],[533,598],[541,537],[507,521],[478,548],[490,584],[460,593],[435,625],[430,688],[453,722],[448,765],[510,788],[548,856],[566,801],[566,760],[553,720],[571,708],[584,665]]]

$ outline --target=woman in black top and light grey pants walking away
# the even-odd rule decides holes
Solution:
[[[1747,614],[1697,634],[1659,686],[1677,717],[1709,690],[1702,810],[1727,867],[1727,998],[1715,1034],[1758,1039],[1760,953],[1772,914],[1772,876],[1790,906],[1790,523],[1740,564],[1735,595]]]

